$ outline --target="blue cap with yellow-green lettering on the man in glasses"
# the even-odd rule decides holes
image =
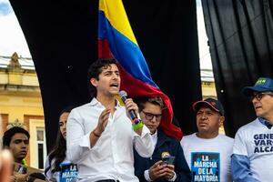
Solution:
[[[259,77],[254,86],[246,86],[242,90],[245,96],[252,96],[254,92],[273,92],[273,80],[268,77]]]

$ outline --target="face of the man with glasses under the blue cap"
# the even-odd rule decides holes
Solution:
[[[271,94],[272,93],[253,94],[252,104],[254,106],[256,116],[263,117],[267,120],[273,118],[273,96]]]

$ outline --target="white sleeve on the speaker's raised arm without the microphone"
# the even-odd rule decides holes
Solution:
[[[84,158],[83,156],[91,149],[89,139],[91,132],[85,134],[85,126],[83,126],[81,119],[74,110],[72,110],[67,119],[67,159],[73,163],[78,163],[79,159]]]

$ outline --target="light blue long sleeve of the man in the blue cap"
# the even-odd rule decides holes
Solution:
[[[250,161],[247,156],[233,154],[231,156],[231,172],[235,182],[258,182],[252,177]]]

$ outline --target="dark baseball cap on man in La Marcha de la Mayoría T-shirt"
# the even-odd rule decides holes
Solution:
[[[205,100],[199,100],[193,104],[193,109],[197,111],[201,106],[210,106],[212,109],[217,111],[221,116],[225,115],[224,107],[214,98],[206,98]]]

